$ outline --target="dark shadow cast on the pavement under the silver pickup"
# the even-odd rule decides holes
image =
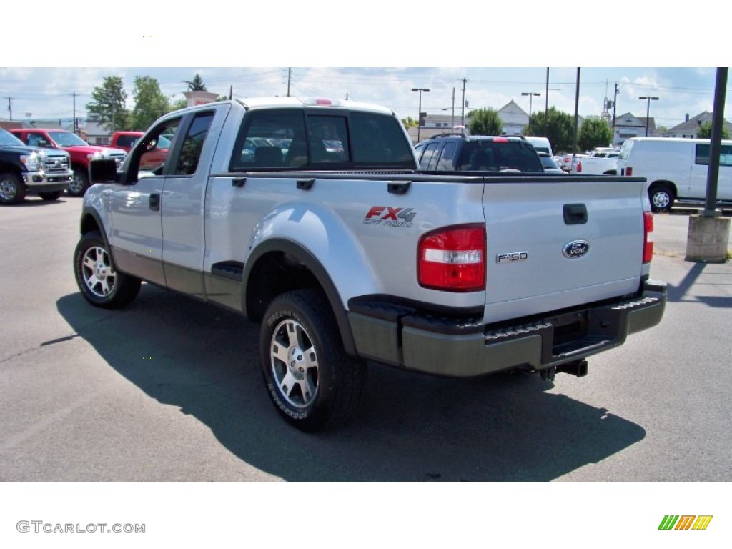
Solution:
[[[269,402],[258,326],[241,316],[150,285],[121,311],[94,309],[81,294],[56,305],[100,367],[195,417],[248,465],[289,481],[548,481],[646,435],[607,410],[547,392],[552,385],[536,375],[466,380],[379,365],[370,366],[354,422],[307,435]],[[168,451],[184,458],[200,449],[160,448]]]

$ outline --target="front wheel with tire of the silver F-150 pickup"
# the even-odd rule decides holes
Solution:
[[[74,276],[86,301],[103,309],[119,309],[135,299],[140,280],[116,272],[102,235],[86,233],[74,252]]]

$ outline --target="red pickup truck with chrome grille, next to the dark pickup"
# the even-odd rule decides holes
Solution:
[[[10,130],[10,132],[28,146],[42,149],[60,149],[69,153],[74,177],[69,182],[67,193],[72,196],[83,196],[89,188],[89,160],[98,158],[115,160],[119,168],[122,165],[122,160],[127,156],[127,152],[122,149],[89,145],[78,135],[67,130],[16,128]]]

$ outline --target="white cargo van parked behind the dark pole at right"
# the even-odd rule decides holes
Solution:
[[[709,171],[709,139],[630,138],[620,149],[618,173],[645,177],[654,212],[673,203],[702,204]],[[732,204],[732,141],[722,140],[717,200]]]

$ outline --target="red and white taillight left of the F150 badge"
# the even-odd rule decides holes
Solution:
[[[485,225],[441,228],[419,239],[417,278],[424,288],[485,290]]]

